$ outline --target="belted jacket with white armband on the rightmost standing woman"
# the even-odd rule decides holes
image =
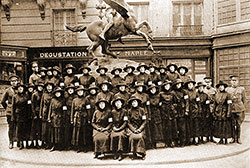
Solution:
[[[215,95],[215,112],[214,117],[216,120],[225,120],[231,116],[232,104],[228,102],[232,101],[229,93],[219,92]]]

